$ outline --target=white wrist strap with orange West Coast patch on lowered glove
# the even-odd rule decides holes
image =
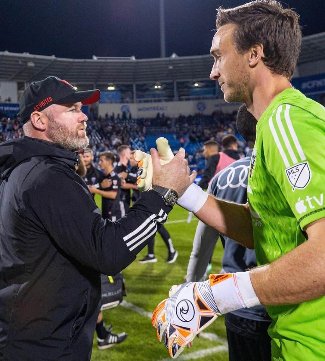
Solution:
[[[250,280],[250,271],[211,274],[212,294],[221,314],[260,305]]]

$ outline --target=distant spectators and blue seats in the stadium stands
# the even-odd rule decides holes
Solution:
[[[204,142],[212,139],[220,143],[224,135],[236,135],[236,132],[236,112],[228,114],[216,111],[209,116],[196,114],[174,118],[158,113],[155,118],[133,119],[131,114],[125,113],[121,117],[119,114],[106,114],[102,117],[91,110],[87,122],[89,148],[94,152],[95,161],[101,152],[109,150],[116,153],[117,147],[121,144],[148,152],[150,147],[154,146],[157,136],[164,135],[173,150],[184,147],[189,164],[200,165],[199,168],[204,168]],[[0,114],[0,143],[22,136],[19,117],[10,119]],[[244,146],[240,142],[242,153]]]

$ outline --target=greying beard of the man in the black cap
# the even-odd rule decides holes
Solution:
[[[80,138],[78,130],[74,132],[70,131],[66,126],[58,123],[54,119],[50,119],[49,121],[48,138],[72,152],[86,148],[89,144],[87,135]]]

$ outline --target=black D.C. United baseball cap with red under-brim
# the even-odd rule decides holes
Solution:
[[[100,99],[100,91],[78,91],[67,81],[57,77],[31,83],[23,92],[19,102],[19,117],[24,124],[30,119],[32,112],[41,111],[52,104],[78,103],[83,105],[96,103]]]

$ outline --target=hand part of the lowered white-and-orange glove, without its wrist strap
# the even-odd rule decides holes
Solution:
[[[220,315],[211,287],[206,282],[188,282],[172,286],[169,299],[154,310],[151,322],[157,338],[176,358],[194,337]]]

